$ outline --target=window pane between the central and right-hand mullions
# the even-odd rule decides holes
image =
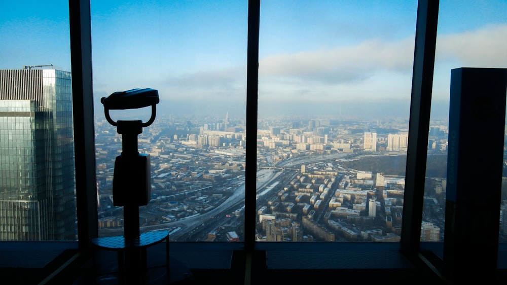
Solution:
[[[400,240],[416,13],[262,2],[256,240]]]

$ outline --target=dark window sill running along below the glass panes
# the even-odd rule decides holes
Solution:
[[[47,278],[66,262],[64,258],[69,259],[77,252],[77,242],[3,242],[0,245],[1,273],[17,279],[19,276],[30,280]],[[206,283],[210,278],[234,284],[244,281],[245,274],[251,277],[253,283],[263,284],[310,282],[317,276],[315,274],[321,278],[335,278],[339,274],[340,280],[345,278],[350,281],[368,274],[376,278],[385,277],[393,284],[413,278],[441,282],[438,274],[431,272],[420,260],[405,256],[399,243],[258,242],[251,259],[240,242],[171,242],[169,248],[171,260],[182,263],[194,274],[193,284]],[[440,259],[442,250],[442,242],[421,243],[421,251],[432,253],[436,259]],[[116,263],[114,252],[101,252],[104,260]],[[499,244],[498,256],[499,274],[505,274],[507,243]],[[163,265],[165,244],[148,248],[148,260],[149,267]],[[74,273],[70,276],[74,278],[89,274],[91,259],[71,267],[74,267],[71,269]]]

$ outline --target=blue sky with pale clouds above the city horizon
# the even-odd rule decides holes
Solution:
[[[444,116],[452,68],[507,67],[505,11],[440,1],[432,96]],[[408,117],[416,13],[416,1],[262,1],[260,116]],[[244,114],[246,1],[92,0],[91,19],[97,102],[153,88],[169,112]],[[3,1],[0,35],[0,68],[71,70],[66,1]]]

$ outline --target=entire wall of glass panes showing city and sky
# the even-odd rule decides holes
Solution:
[[[77,238],[67,4],[6,3],[0,11],[0,240]],[[250,130],[256,132],[258,149],[256,240],[397,241],[417,5],[314,5],[266,1],[261,9],[259,127]],[[253,235],[243,235],[246,6],[246,1],[93,3],[97,181],[84,175],[84,184],[92,180],[97,185],[101,236],[123,232],[123,212],[112,196],[123,138],[105,121],[100,98],[154,88],[161,96],[157,120],[138,140],[139,152],[151,157],[151,201],[140,208],[141,231],[169,230],[171,241],[253,240]],[[421,225],[428,226],[429,234],[422,232],[421,240],[442,240],[443,229],[432,229],[443,219],[445,175],[438,170],[446,155],[450,69],[507,64],[502,53],[504,3],[443,1],[440,6]],[[88,11],[79,12],[86,26]],[[82,38],[72,34],[73,48],[83,44],[85,50],[73,63],[81,60],[80,67],[87,69],[89,39],[83,30]],[[88,79],[84,75],[74,86],[84,85],[86,91]],[[88,120],[89,107],[76,123]],[[147,120],[145,111],[118,111],[112,117]],[[88,131],[76,128],[77,135]],[[487,135],[478,137],[478,145],[484,144],[480,140]],[[77,152],[77,159],[84,157]],[[82,164],[80,169],[86,168]],[[439,164],[436,169],[434,164]],[[90,194],[83,191],[77,192]],[[136,194],[135,189],[126,191]],[[86,198],[93,205],[78,199],[80,206],[87,205],[80,207],[80,221],[94,216],[86,215],[90,208],[95,213],[95,198]],[[414,202],[413,197],[407,200]],[[504,208],[502,200],[500,240],[505,235]],[[87,241],[95,236],[84,224],[80,245],[88,251]],[[285,245],[275,247],[291,247]],[[337,248],[323,246],[327,257],[328,250]],[[364,243],[358,248],[371,255]],[[252,255],[245,256],[249,263]]]

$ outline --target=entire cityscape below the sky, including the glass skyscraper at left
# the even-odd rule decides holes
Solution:
[[[0,239],[77,239],[70,73],[0,71],[2,82],[27,86],[3,85],[0,94]],[[118,236],[124,219],[113,178],[122,135],[104,115],[95,117],[99,236]],[[169,231],[171,241],[244,241],[245,191],[256,191],[256,241],[400,240],[407,119],[262,117],[254,188],[245,185],[244,117],[187,117],[159,111],[138,135],[151,175],[140,232]],[[433,120],[428,130],[421,241],[444,240],[447,124]],[[502,176],[499,240],[505,241],[505,171]]]

